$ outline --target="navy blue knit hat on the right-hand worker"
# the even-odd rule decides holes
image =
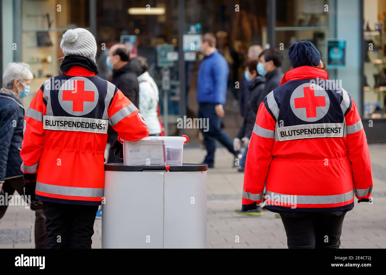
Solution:
[[[318,67],[320,52],[310,41],[300,41],[291,44],[288,48],[289,61],[292,68],[300,66]]]

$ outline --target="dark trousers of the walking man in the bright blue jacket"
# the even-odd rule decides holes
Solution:
[[[201,129],[204,136],[205,147],[207,148],[207,156],[204,163],[213,165],[216,150],[216,140],[218,140],[230,153],[236,155],[233,149],[232,139],[221,129],[221,118],[217,116],[215,111],[215,103],[200,103],[198,109],[198,118],[209,120],[208,129]],[[205,132],[206,130],[207,132]]]

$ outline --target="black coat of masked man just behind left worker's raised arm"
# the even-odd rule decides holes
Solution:
[[[130,101],[139,107],[139,85],[137,77],[141,75],[141,63],[137,59],[131,59],[118,70],[113,70],[112,83],[129,98]]]

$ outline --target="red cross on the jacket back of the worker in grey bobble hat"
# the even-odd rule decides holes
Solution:
[[[94,102],[94,91],[85,91],[85,82],[74,80],[74,90],[63,90],[63,100],[73,102],[73,112],[83,112],[84,102]]]

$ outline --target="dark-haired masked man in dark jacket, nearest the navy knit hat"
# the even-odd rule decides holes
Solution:
[[[266,85],[264,92],[259,95],[258,102],[262,102],[268,93],[279,87],[281,78],[283,78],[282,62],[283,55],[277,48],[269,48],[260,53],[257,73],[266,78]]]

